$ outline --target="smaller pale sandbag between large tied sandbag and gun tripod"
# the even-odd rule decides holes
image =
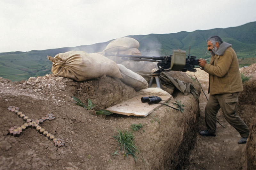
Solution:
[[[131,86],[136,91],[148,88],[148,82],[141,75],[134,73],[132,70],[127,69],[121,64],[117,65],[119,66],[120,73],[123,77],[121,81],[125,84]]]

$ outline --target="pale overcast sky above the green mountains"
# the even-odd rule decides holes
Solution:
[[[255,0],[0,0],[0,52],[102,43],[256,21]]]

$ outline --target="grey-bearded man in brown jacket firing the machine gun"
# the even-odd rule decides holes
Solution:
[[[208,38],[206,42],[212,54],[210,64],[202,58],[198,62],[199,66],[209,73],[210,97],[204,110],[207,130],[199,134],[216,136],[217,113],[221,108],[225,119],[242,137],[238,143],[246,143],[249,128],[236,115],[239,92],[244,90],[236,52],[231,48],[231,44],[223,42],[217,35]]]

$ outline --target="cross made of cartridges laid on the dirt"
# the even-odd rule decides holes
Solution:
[[[9,106],[7,108],[9,111],[16,113],[20,118],[22,118],[24,121],[26,121],[26,123],[24,123],[21,126],[13,126],[9,129],[9,135],[13,135],[13,136],[20,136],[20,134],[27,128],[35,128],[36,131],[38,131],[39,133],[43,134],[44,136],[46,136],[49,140],[52,140],[54,143],[54,146],[57,147],[61,147],[65,145],[64,140],[55,137],[54,135],[52,135],[51,133],[49,133],[48,131],[46,131],[44,128],[41,128],[41,126],[39,126],[39,124],[42,124],[44,121],[46,120],[53,120],[55,119],[55,115],[52,113],[48,113],[45,117],[42,117],[41,119],[29,119],[28,116],[26,116],[25,114],[23,114],[22,112],[20,112],[19,107],[15,107],[15,106]]]

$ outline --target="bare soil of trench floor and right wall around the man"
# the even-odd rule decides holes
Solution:
[[[217,115],[217,133],[215,137],[197,135],[196,145],[189,157],[186,169],[256,169],[255,132],[256,132],[256,63],[240,69],[241,73],[251,76],[243,83],[244,91],[239,95],[237,114],[250,128],[247,144],[237,144],[241,138],[239,133],[224,118],[222,112]],[[194,75],[194,73],[189,73]],[[208,76],[202,70],[196,72],[207,97]],[[200,96],[199,131],[206,130],[204,123],[204,107],[207,103],[205,95]]]

